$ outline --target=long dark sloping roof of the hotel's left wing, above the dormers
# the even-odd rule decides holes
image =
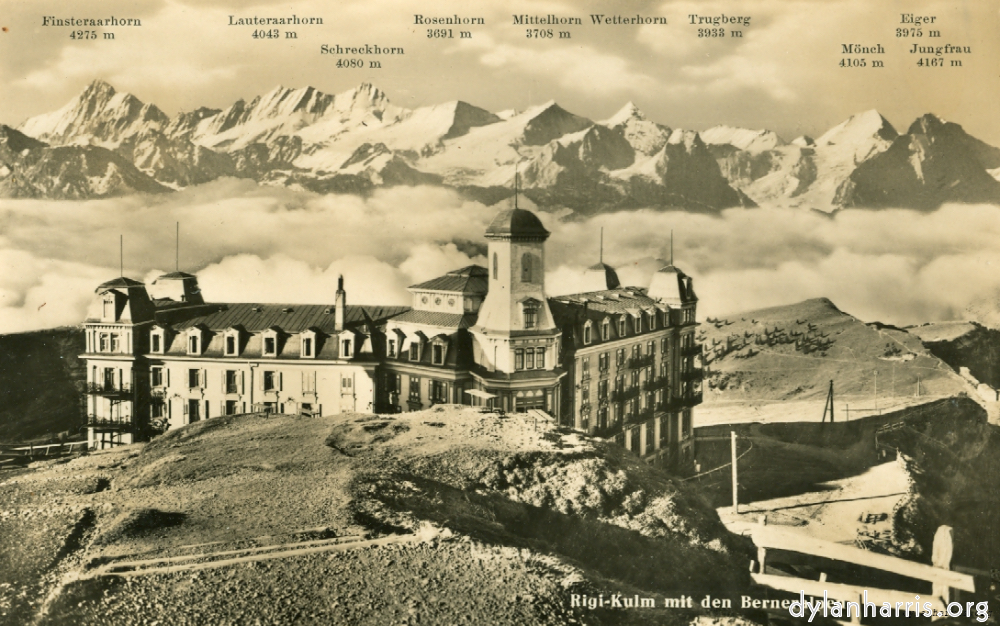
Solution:
[[[220,310],[197,315],[176,322],[175,330],[181,331],[199,324],[210,330],[225,330],[242,325],[247,332],[261,332],[272,326],[286,333],[299,333],[315,328],[324,333],[338,332],[335,328],[334,307],[330,304],[220,304]],[[360,325],[365,322],[365,313],[372,322],[378,324],[408,311],[405,306],[348,305],[344,310],[344,325]]]

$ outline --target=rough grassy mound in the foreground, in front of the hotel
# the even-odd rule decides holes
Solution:
[[[520,415],[216,418],[7,476],[12,623],[670,624],[570,594],[749,584],[691,490]]]

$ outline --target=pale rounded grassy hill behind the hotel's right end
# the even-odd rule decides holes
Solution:
[[[970,391],[918,337],[864,323],[825,298],[711,318],[699,338],[707,363],[699,424],[819,421],[831,380],[837,411],[859,414],[875,412],[876,395],[884,411]]]

